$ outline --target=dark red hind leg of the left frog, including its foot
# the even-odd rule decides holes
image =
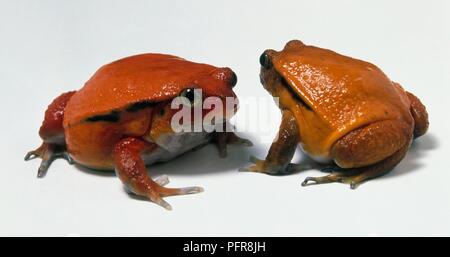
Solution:
[[[64,158],[70,164],[73,163],[72,158],[66,152],[63,119],[67,102],[74,93],[74,91],[64,93],[48,106],[44,121],[39,129],[39,135],[43,142],[36,150],[29,151],[25,155],[25,161],[38,157],[42,159],[38,169],[38,178],[45,176],[51,163],[57,158]]]

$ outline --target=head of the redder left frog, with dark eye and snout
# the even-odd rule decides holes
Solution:
[[[237,111],[236,83],[237,76],[230,68],[214,67],[199,73],[180,86],[174,98],[155,107],[150,137],[155,140],[162,134],[180,132],[180,126],[203,132],[205,126],[224,124]]]

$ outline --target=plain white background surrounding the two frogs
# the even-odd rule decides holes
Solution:
[[[1,1],[0,235],[448,236],[449,17],[449,1]],[[270,145],[241,133],[255,146],[228,159],[208,146],[149,168],[171,186],[205,188],[166,198],[169,212],[128,196],[113,174],[58,160],[37,179],[39,161],[23,161],[40,144],[46,106],[105,63],[171,53],[229,66],[241,98],[270,99],[259,55],[294,38],[373,62],[425,103],[429,133],[389,175],[353,191],[300,187],[317,170],[239,173]],[[265,126],[274,135],[278,124]]]

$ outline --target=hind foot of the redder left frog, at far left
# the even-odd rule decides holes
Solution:
[[[41,158],[41,165],[38,169],[38,178],[43,178],[47,174],[47,170],[55,159],[66,159],[69,164],[73,164],[73,159],[67,153],[64,146],[53,145],[48,143],[42,143],[42,145],[36,150],[29,151],[25,155],[25,161],[29,161],[35,158]]]

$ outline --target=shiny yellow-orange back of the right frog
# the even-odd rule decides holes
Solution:
[[[305,45],[284,49],[274,65],[333,130],[410,116],[404,90],[371,63]]]

